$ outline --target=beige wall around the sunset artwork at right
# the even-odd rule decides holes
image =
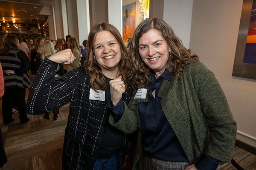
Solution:
[[[237,122],[237,139],[256,147],[256,82],[232,78],[242,3],[193,0],[190,48],[221,84]]]

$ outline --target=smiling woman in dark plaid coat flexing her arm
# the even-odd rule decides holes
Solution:
[[[122,169],[125,156],[133,151],[134,134],[125,134],[109,122],[109,81],[119,78],[123,101],[133,94],[125,79],[127,54],[118,30],[108,23],[93,26],[88,37],[88,58],[53,81],[59,63],[70,64],[70,49],[45,58],[28,96],[29,114],[49,113],[70,102],[62,153],[63,170]]]

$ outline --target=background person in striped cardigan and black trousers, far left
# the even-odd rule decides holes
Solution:
[[[2,98],[3,123],[5,125],[14,121],[12,119],[13,105],[16,105],[19,111],[20,123],[29,122],[25,108],[25,94],[26,88],[30,88],[29,69],[31,64],[27,55],[17,47],[18,42],[17,36],[7,34],[0,47],[0,62],[5,80],[5,93]]]

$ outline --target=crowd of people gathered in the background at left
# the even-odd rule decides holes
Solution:
[[[64,38],[59,38],[58,40],[47,40],[43,37],[38,37],[35,40],[26,40],[23,39],[20,35],[16,36],[15,34],[1,33],[0,39],[1,53],[3,53],[1,54],[0,62],[17,62],[15,63],[16,65],[14,68],[12,68],[12,65],[10,64],[4,66],[2,69],[3,77],[8,77],[9,79],[9,82],[6,81],[8,85],[5,84],[5,95],[2,97],[3,122],[6,125],[14,121],[14,119],[12,119],[12,113],[14,112],[20,114],[21,123],[29,121],[29,119],[26,117],[25,111],[24,90],[25,88],[30,88],[29,71],[31,75],[35,75],[45,57],[58,53],[59,51],[67,48],[70,48],[73,54],[76,56],[76,60],[70,65],[60,64],[58,66],[57,72],[55,74],[55,79],[58,79],[64,75],[64,73],[67,73],[67,71],[83,65],[86,59],[85,55],[87,55],[87,53],[85,53],[87,51],[86,46],[84,46],[85,50],[82,55],[83,57],[80,57],[81,50],[79,43],[75,37],[71,37],[70,35],[66,36],[66,40]],[[84,40],[84,42],[85,41],[87,40]],[[84,43],[84,45],[86,45],[86,43]],[[14,72],[10,72],[10,70],[14,70]],[[20,80],[21,82],[16,79],[17,74],[23,74],[23,77],[20,78],[22,79]],[[24,85],[24,80],[26,80],[26,85]],[[19,86],[22,89],[16,89],[16,87]],[[20,96],[18,96],[19,98],[17,98],[17,95],[19,95],[19,93],[16,93],[17,90],[22,90],[22,95],[20,94]],[[22,102],[19,100],[22,100]],[[20,106],[20,103],[23,103],[22,107]],[[54,111],[54,120],[58,118],[58,112],[58,109]],[[45,114],[44,118],[49,119],[49,114]]]

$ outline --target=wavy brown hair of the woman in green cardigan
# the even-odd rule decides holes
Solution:
[[[175,78],[179,78],[184,69],[184,65],[193,60],[198,60],[198,56],[191,54],[186,49],[180,39],[174,34],[172,28],[160,18],[148,18],[137,26],[129,51],[129,61],[127,78],[132,79],[136,88],[146,88],[152,81],[152,70],[143,62],[139,54],[139,40],[143,34],[151,29],[160,31],[168,46],[171,48],[166,69],[172,72]]]

